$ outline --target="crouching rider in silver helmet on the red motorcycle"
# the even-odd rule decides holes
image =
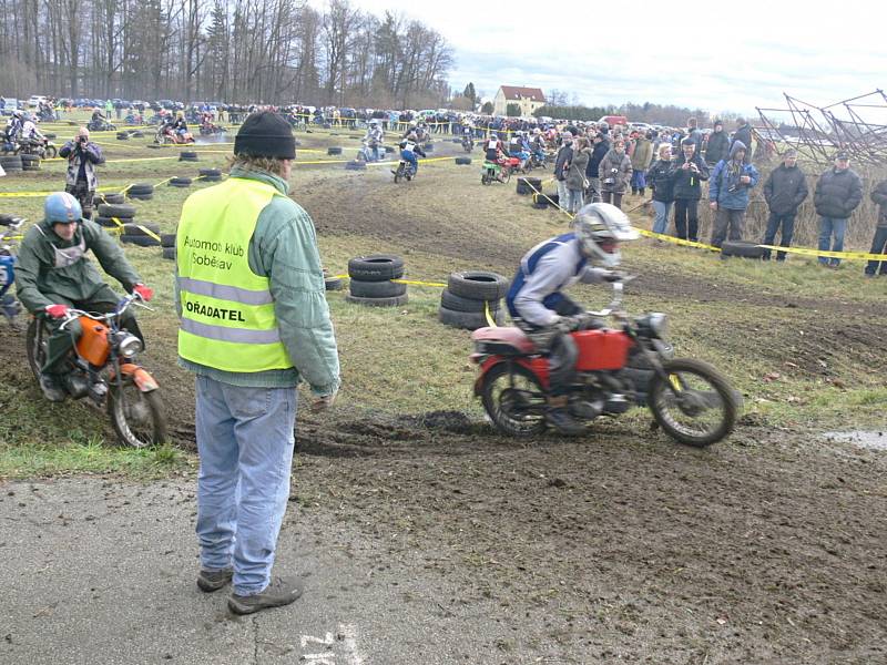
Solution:
[[[577,282],[600,284],[621,279],[612,272],[621,259],[619,244],[639,237],[625,213],[609,203],[591,203],[580,208],[572,228],[539,243],[523,255],[506,297],[514,324],[549,357],[546,420],[564,434],[584,432],[569,411],[568,392],[579,358],[570,332],[599,327],[599,321],[568,298],[563,289]]]

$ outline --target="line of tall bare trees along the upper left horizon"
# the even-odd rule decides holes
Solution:
[[[0,0],[0,94],[426,108],[452,49],[330,0]]]

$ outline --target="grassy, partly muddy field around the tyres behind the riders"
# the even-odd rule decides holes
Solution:
[[[55,132],[61,145],[74,127],[54,124],[44,131]],[[297,134],[292,196],[315,219],[322,256],[333,274],[344,273],[351,256],[388,252],[405,257],[411,279],[446,280],[450,270],[463,268],[510,276],[527,248],[567,227],[564,215],[536,211],[528,198],[517,196],[513,182],[481,186],[477,152],[475,165],[429,162],[415,182],[400,186],[391,182],[388,166],[345,171],[341,160],[356,154],[359,142],[351,136],[358,133],[343,129]],[[149,129],[145,139],[129,141],[118,141],[114,132],[93,135],[108,158],[100,168],[101,188],[196,176],[200,167],[223,167],[232,150],[233,135],[227,134],[228,143],[194,146],[200,163],[180,162],[177,146],[149,149],[152,134]],[[327,157],[330,145],[343,146],[344,154]],[[447,136],[436,139],[436,149],[429,157],[462,154]],[[309,164],[327,160],[329,164]],[[40,172],[1,178],[0,192],[62,188],[64,168],[64,161],[44,162]],[[133,202],[135,221],[156,222],[172,233],[185,197],[205,186],[210,184],[200,181],[188,190],[160,185],[153,201]],[[0,206],[35,221],[42,201],[0,198]],[[630,197],[626,207],[640,203]],[[649,228],[650,219],[640,211],[632,217]],[[161,380],[171,420],[187,429],[192,379],[175,366],[173,264],[160,258],[159,248],[125,249],[157,293],[155,310],[141,314],[149,340],[144,362]],[[625,247],[623,257],[624,267],[640,276],[626,289],[629,310],[670,314],[677,355],[713,362],[743,392],[743,422],[789,429],[883,422],[887,382],[879,368],[887,348],[881,332],[887,283],[865,279],[860,262],[845,262],[832,272],[802,257],[786,265],[721,260],[713,253],[646,239]],[[339,406],[387,415],[453,410],[479,420],[468,332],[437,321],[439,289],[411,286],[409,294],[409,304],[396,309],[365,309],[347,304],[343,293],[329,294],[344,378]],[[605,289],[588,287],[577,288],[575,295],[590,307],[609,296]],[[21,347],[6,328],[2,336],[13,348]],[[12,354],[3,372],[8,385],[0,393],[6,419],[0,477],[82,469],[152,474],[188,463],[188,453],[157,458],[116,450],[103,416],[84,405],[42,402],[23,357]],[[634,421],[642,418],[639,413]],[[70,454],[60,456],[59,450]],[[102,453],[96,456],[96,450]]]

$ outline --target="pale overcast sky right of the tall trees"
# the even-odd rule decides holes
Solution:
[[[435,28],[455,50],[450,84],[472,81],[489,98],[502,84],[527,85],[574,92],[587,105],[650,101],[756,115],[755,106],[784,106],[783,92],[825,105],[887,88],[887,10],[875,0],[351,3]]]

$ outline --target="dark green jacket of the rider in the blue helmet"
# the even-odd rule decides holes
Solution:
[[[94,222],[83,219],[74,237],[63,241],[44,219],[28,229],[19,247],[16,291],[28,311],[35,313],[54,303],[44,294],[82,301],[90,300],[102,288],[104,279],[86,255],[68,267],[55,267],[55,250],[52,245],[59,249],[68,249],[80,245],[81,239],[86,249],[92,250],[99,259],[104,272],[120,282],[128,293],[141,282],[139,274],[126,260],[123,249]]]

